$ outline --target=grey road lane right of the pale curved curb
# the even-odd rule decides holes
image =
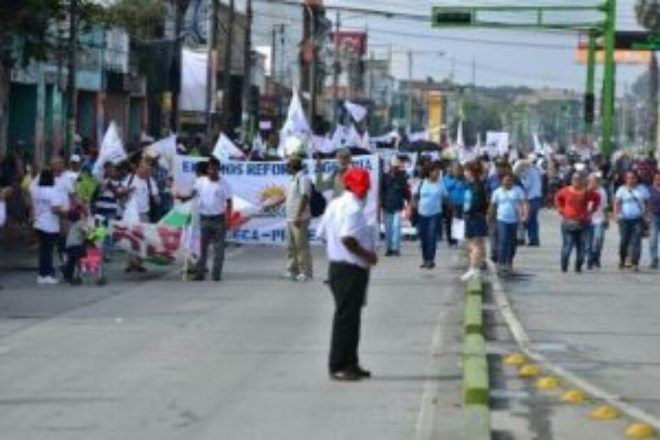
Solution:
[[[516,277],[502,280],[534,348],[553,364],[660,416],[660,272],[618,270],[618,229],[609,229],[603,268],[563,274],[559,218],[541,217],[542,247],[520,248]]]

